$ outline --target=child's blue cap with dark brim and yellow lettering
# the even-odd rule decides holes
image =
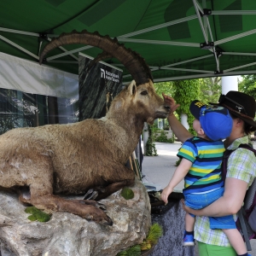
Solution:
[[[201,128],[212,141],[230,136],[233,120],[227,108],[195,100],[191,102],[189,109],[195,119],[200,120]]]

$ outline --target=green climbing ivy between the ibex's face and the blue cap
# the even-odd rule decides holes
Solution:
[[[198,79],[191,79],[174,81],[173,84],[175,86],[175,94],[173,97],[177,103],[181,104],[176,112],[179,116],[183,113],[188,115],[189,132],[195,134],[193,130],[193,121],[195,118],[192,113],[190,113],[189,106],[192,101],[199,98],[200,83]]]

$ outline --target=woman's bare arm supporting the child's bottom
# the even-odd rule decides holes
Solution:
[[[184,206],[184,204],[183,209],[197,216],[221,217],[236,214],[242,206],[247,192],[247,185],[247,182],[241,179],[227,177],[225,180],[224,195],[217,201],[214,201],[211,205],[201,210],[193,210]]]

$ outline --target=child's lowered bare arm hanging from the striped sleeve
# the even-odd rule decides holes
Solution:
[[[181,160],[179,166],[177,166],[172,176],[172,179],[170,180],[170,183],[161,193],[161,199],[165,203],[168,202],[168,196],[172,193],[172,190],[174,189],[174,187],[177,186],[177,184],[180,183],[183,180],[183,178],[187,175],[191,166],[192,166],[191,161],[185,158]]]

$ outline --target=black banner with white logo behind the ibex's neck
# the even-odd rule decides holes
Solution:
[[[90,61],[90,56],[79,54],[80,121],[105,116],[113,97],[122,89],[121,69],[100,61],[87,72]]]

